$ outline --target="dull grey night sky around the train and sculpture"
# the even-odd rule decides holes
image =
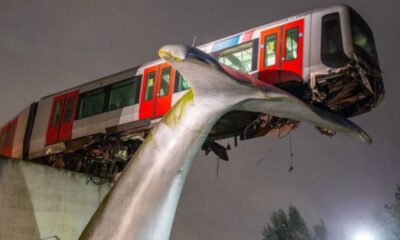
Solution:
[[[168,43],[202,44],[313,8],[345,2],[370,24],[385,73],[386,99],[352,119],[371,146],[320,135],[302,124],[288,138],[241,142],[221,162],[195,161],[172,239],[261,239],[272,211],[299,208],[310,225],[323,218],[334,239],[369,227],[400,183],[400,2],[397,0],[1,1],[0,124],[44,95],[157,58]],[[275,147],[259,165],[257,161]],[[231,145],[232,142],[231,142]]]

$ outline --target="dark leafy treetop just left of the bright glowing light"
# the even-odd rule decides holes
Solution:
[[[313,229],[314,233],[308,229],[297,208],[289,206],[288,214],[282,209],[272,213],[262,235],[263,240],[328,240],[328,231],[322,220]]]

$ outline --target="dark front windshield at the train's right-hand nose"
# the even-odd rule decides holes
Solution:
[[[351,29],[355,52],[372,65],[378,65],[374,38],[367,23],[355,11],[351,13]]]

